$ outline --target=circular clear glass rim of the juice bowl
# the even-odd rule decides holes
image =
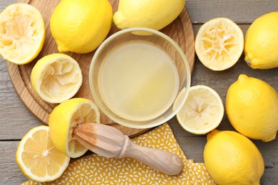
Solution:
[[[153,124],[143,124],[143,125],[138,124],[138,125],[135,125],[134,124],[135,121],[131,121],[131,120],[130,120],[130,122],[133,122],[133,124],[128,124],[127,122],[122,122],[121,120],[118,120],[117,118],[110,115],[101,106],[101,103],[99,102],[98,97],[96,97],[95,90],[94,90],[95,88],[93,87],[93,83],[92,83],[92,80],[91,80],[93,78],[93,65],[96,62],[96,58],[98,57],[98,55],[101,52],[101,50],[103,49],[103,47],[106,46],[106,44],[109,43],[111,40],[113,40],[113,38],[116,38],[116,37],[122,35],[123,33],[129,33],[129,32],[131,33],[131,32],[134,32],[134,31],[150,32],[150,33],[153,33],[155,35],[161,36],[161,37],[165,38],[165,40],[169,41],[176,48],[177,52],[180,54],[180,56],[183,60],[183,63],[185,64],[185,70],[187,72],[186,76],[185,76],[185,78],[187,79],[186,84],[185,84],[185,87],[186,87],[185,97],[183,97],[182,103],[173,112],[171,112],[171,114],[168,115],[168,117],[165,117],[165,118],[163,118],[163,120],[160,120],[160,121],[155,122]],[[123,125],[125,127],[130,127],[130,128],[135,128],[135,129],[148,129],[148,128],[156,127],[156,126],[162,125],[163,123],[168,122],[170,119],[172,119],[177,114],[177,112],[180,110],[182,105],[185,103],[185,100],[187,99],[187,96],[189,94],[190,84],[191,84],[190,65],[188,63],[187,57],[185,56],[185,53],[183,53],[180,46],[172,38],[167,36],[165,33],[154,30],[152,28],[143,28],[143,27],[125,28],[125,29],[120,30],[116,33],[113,33],[111,36],[106,38],[105,41],[103,41],[103,43],[101,43],[100,46],[98,46],[98,48],[96,50],[96,53],[93,55],[93,58],[92,58],[91,64],[90,64],[90,68],[89,68],[89,85],[90,85],[90,89],[91,89],[91,94],[93,95],[93,100],[96,102],[96,105],[98,105],[98,108],[101,110],[101,112],[103,112],[103,114],[105,114],[108,118],[110,118],[110,120],[113,120],[113,122],[118,123],[119,125]],[[180,93],[181,90],[182,89],[179,90],[179,93]],[[156,118],[154,118],[154,119],[156,119]],[[140,122],[140,121],[138,121],[138,122]],[[144,122],[146,122],[146,121],[144,121]]]

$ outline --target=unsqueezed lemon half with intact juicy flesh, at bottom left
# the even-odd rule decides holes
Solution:
[[[44,125],[34,127],[21,139],[16,151],[16,163],[34,181],[58,179],[71,159],[54,147],[48,131]]]

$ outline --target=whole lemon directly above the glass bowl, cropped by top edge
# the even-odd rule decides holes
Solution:
[[[175,20],[185,8],[185,0],[120,0],[113,16],[120,29],[145,27],[160,30]]]

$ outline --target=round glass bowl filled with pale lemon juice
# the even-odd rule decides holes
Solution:
[[[167,122],[173,102],[190,86],[190,68],[177,43],[150,28],[128,28],[106,39],[93,56],[90,87],[101,111],[127,127]]]

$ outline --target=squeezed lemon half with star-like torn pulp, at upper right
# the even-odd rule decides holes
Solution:
[[[214,18],[204,23],[195,39],[195,51],[207,68],[225,70],[242,55],[244,37],[239,26],[229,18]]]

